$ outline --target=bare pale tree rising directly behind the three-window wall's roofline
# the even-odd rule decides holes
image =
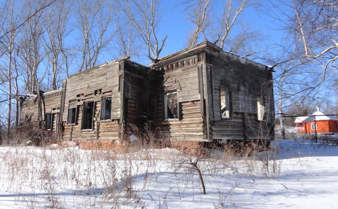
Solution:
[[[76,27],[81,32],[81,64],[79,72],[95,66],[98,56],[111,44],[115,35],[110,30],[111,6],[105,0],[81,0],[75,8]]]

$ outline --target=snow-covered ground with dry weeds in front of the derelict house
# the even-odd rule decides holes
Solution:
[[[269,172],[258,155],[198,159],[206,194],[190,163],[196,158],[173,149],[0,147],[0,208],[338,207],[337,147],[272,146],[279,149],[269,153]]]

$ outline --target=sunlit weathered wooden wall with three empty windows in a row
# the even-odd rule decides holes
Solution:
[[[123,60],[122,60],[123,62]],[[121,93],[124,69],[119,62],[101,64],[98,67],[72,75],[67,79],[65,107],[63,114],[64,140],[104,139],[115,140],[120,138],[121,120]],[[101,121],[102,98],[111,97],[111,119]],[[93,129],[81,130],[83,103],[94,101]],[[75,124],[68,123],[69,108],[77,108]]]

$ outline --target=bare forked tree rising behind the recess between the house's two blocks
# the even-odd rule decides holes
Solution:
[[[147,57],[156,61],[162,51],[167,36],[159,43],[158,23],[160,0],[121,0],[120,8],[138,31],[140,40],[147,46]]]

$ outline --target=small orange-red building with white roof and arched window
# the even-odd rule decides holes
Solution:
[[[338,125],[333,116],[326,116],[325,113],[319,110],[309,116],[297,117],[295,120],[298,133],[338,133]]]

